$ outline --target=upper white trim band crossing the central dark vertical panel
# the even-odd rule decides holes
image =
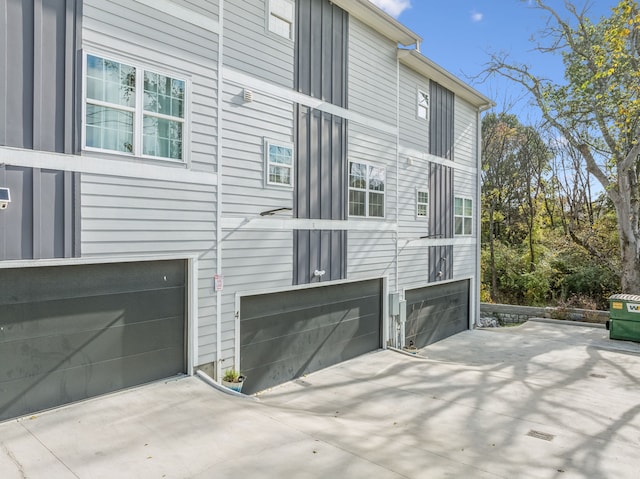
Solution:
[[[294,103],[299,103],[310,108],[329,113],[331,115],[339,116],[354,123],[360,123],[371,129],[379,130],[391,135],[398,134],[398,128],[394,125],[376,120],[374,118],[367,117],[360,113],[356,113],[345,108],[341,108],[331,103],[327,103],[317,98],[313,98],[302,93],[298,93],[294,90],[275,85],[273,83],[260,80],[258,78],[246,75],[230,68],[225,68],[222,72],[223,79],[230,83],[236,84],[243,88],[262,92],[267,95],[274,96],[276,98],[288,100]]]

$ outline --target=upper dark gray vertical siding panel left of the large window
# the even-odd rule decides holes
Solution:
[[[0,144],[73,153],[80,0],[6,0]]]

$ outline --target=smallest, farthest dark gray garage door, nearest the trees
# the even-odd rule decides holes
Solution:
[[[469,329],[469,280],[407,290],[405,342],[418,348]]]

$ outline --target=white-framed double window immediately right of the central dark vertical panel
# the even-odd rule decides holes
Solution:
[[[384,168],[349,162],[349,215],[384,218],[385,181]]]

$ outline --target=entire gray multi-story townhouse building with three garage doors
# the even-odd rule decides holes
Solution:
[[[5,0],[0,420],[479,314],[480,113],[368,0]]]

